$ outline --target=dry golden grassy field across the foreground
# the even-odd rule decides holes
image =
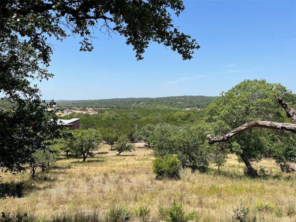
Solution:
[[[221,175],[212,167],[207,174],[185,170],[178,181],[159,181],[151,170],[152,160],[149,149],[137,147],[136,152],[116,156],[104,144],[86,163],[62,156],[44,173],[49,177],[47,181],[33,181],[29,174],[2,173],[0,183],[22,180],[26,191],[21,199],[0,200],[0,211],[47,218],[62,211],[98,210],[103,214],[119,204],[131,208],[148,205],[152,218],[157,220],[159,207],[170,206],[176,198],[186,210],[197,212],[195,221],[226,222],[231,221],[232,207],[239,206],[242,198],[252,215],[260,215],[257,201],[274,205],[273,210],[264,212],[266,221],[296,221],[295,173],[284,173],[283,178],[250,179],[243,175],[244,165],[237,162],[235,155],[229,155]],[[280,172],[271,160],[254,165]]]

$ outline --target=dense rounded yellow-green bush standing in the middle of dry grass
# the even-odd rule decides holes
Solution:
[[[165,155],[163,158],[157,157],[152,163],[152,170],[157,179],[179,179],[180,169],[181,163],[177,157],[171,155]]]

